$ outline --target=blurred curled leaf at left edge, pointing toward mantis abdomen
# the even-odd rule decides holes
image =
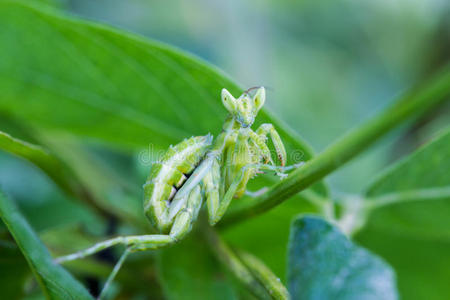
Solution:
[[[135,186],[128,189],[135,192],[133,197],[125,195],[122,190],[126,186],[126,180],[114,176],[115,172],[106,169],[89,155],[77,140],[67,134],[55,135],[37,131],[34,131],[34,137],[46,147],[31,144],[0,131],[0,150],[33,163],[66,193],[78,196],[102,214],[112,213],[139,225],[145,222]]]

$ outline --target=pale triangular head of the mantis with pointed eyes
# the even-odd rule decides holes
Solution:
[[[251,97],[244,92],[239,98],[234,98],[226,89],[222,89],[222,103],[234,120],[242,127],[250,127],[255,121],[256,115],[266,100],[266,90],[260,87]]]

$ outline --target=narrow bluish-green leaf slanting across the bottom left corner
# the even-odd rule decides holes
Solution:
[[[0,194],[0,217],[14,237],[48,299],[93,299],[65,269],[55,264],[47,248],[14,203]]]

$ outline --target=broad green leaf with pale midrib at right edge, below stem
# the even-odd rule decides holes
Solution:
[[[450,297],[450,130],[382,173],[356,239],[398,274],[404,299]]]

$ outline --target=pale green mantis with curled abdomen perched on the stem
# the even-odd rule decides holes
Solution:
[[[272,124],[262,124],[256,131],[251,129],[264,105],[265,89],[258,88],[253,97],[249,92],[236,99],[222,90],[222,103],[229,116],[214,141],[210,134],[186,139],[171,146],[153,164],[144,184],[144,212],[161,234],[116,237],[60,257],[57,262],[83,258],[118,244],[127,246],[105,283],[103,295],[129,253],[161,248],[182,239],[197,219],[204,199],[209,223],[214,225],[231,200],[246,192],[252,177],[264,170],[283,176],[282,172],[295,168],[296,165],[285,166],[286,150]],[[280,166],[272,158],[267,136],[275,146]]]

